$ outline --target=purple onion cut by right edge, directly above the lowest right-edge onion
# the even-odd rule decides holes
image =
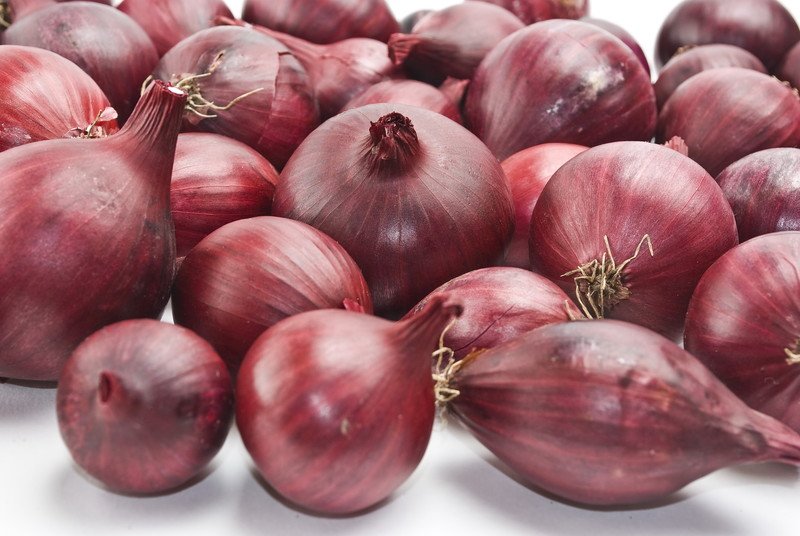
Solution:
[[[717,176],[733,207],[739,240],[780,231],[800,231],[800,149],[759,151]]]

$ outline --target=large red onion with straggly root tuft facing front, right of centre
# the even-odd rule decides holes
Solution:
[[[579,287],[587,316],[672,339],[703,272],[736,244],[733,212],[714,179],[679,152],[642,142],[595,147],[567,162],[531,220],[533,270],[573,297]]]

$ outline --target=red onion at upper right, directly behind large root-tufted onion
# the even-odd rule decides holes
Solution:
[[[704,71],[678,86],[661,110],[656,138],[673,136],[717,176],[754,152],[800,144],[800,96],[751,69]]]

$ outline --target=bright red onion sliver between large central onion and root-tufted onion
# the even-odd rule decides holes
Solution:
[[[531,267],[528,242],[533,207],[553,173],[586,149],[588,147],[583,145],[545,143],[520,151],[502,162],[511,186],[516,220],[514,237],[503,264],[525,269]]]

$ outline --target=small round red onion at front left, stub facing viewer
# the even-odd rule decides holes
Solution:
[[[155,320],[86,339],[56,402],[75,462],[113,491],[162,493],[200,475],[233,421],[233,384],[206,341]]]

